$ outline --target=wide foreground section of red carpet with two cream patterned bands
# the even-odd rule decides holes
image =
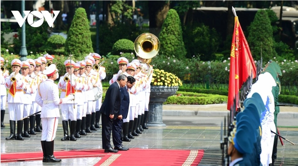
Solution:
[[[204,150],[130,149],[108,153],[96,166],[197,166]]]

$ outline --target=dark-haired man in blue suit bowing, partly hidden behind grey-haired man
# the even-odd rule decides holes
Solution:
[[[120,88],[120,93],[121,93],[121,109],[120,109],[120,113],[123,116],[122,119],[126,119],[127,116],[129,117],[129,89],[132,88],[135,84],[135,79],[132,76],[127,76],[127,83],[126,86],[124,88]],[[123,90],[122,90],[123,89]],[[123,122],[123,120],[121,120],[121,123],[123,123],[123,141],[126,142],[130,142],[130,139],[128,138],[128,127],[129,127],[129,122]],[[122,143],[122,140],[121,140]],[[115,143],[114,143],[115,145]]]

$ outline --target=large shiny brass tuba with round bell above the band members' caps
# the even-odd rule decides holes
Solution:
[[[147,76],[151,74],[151,68],[149,63],[152,58],[157,55],[160,49],[160,42],[158,38],[151,33],[140,34],[134,41],[134,51],[137,56],[146,59],[145,64],[148,66]]]

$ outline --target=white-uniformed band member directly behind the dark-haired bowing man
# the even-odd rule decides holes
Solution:
[[[126,73],[127,73],[126,76],[133,77],[136,68],[137,67],[134,63],[128,63],[127,68],[126,68]],[[128,88],[128,91],[129,91],[128,113],[127,113],[126,119],[123,119],[123,141],[126,141],[126,142],[130,142],[128,135],[130,135],[130,137],[132,136],[131,135],[131,129],[132,129],[131,126],[133,126],[133,123],[134,123],[134,114],[135,114],[136,101],[137,101],[137,99],[135,98],[136,96],[131,92],[131,91],[133,91],[133,92],[136,91],[135,86],[133,86],[133,84],[135,84],[135,83],[130,82],[129,84],[130,84],[130,86],[126,85]],[[132,124],[130,124],[130,123],[132,123]],[[130,128],[129,128],[129,126],[130,126]],[[130,131],[130,134],[129,134],[129,131]]]

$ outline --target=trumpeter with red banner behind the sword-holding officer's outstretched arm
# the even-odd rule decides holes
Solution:
[[[75,94],[75,90],[79,90],[82,86],[81,83],[77,83],[77,76],[74,75],[75,62],[73,60],[66,60],[64,62],[66,67],[66,74],[60,77],[58,88],[61,89],[60,99]],[[77,126],[77,99],[72,102],[67,102],[61,105],[62,112],[62,127],[64,131],[64,137],[61,141],[76,141],[75,132]],[[68,119],[70,119],[70,136],[68,135]]]

